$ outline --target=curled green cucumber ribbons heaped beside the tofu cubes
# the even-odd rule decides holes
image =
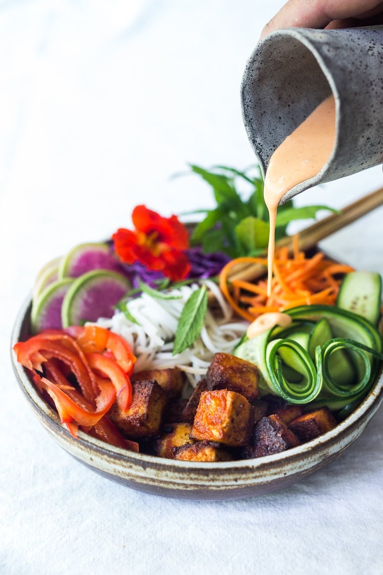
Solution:
[[[263,376],[260,392],[278,394],[290,403],[310,402],[334,410],[363,398],[383,360],[381,336],[374,325],[332,306],[300,306],[285,313],[292,316],[293,327],[274,327],[253,343],[249,339],[242,344],[247,352],[250,346],[253,350],[261,346],[257,350]],[[314,328],[323,317],[333,335],[313,348]],[[349,333],[352,337],[343,336]],[[241,347],[236,355],[242,356]]]

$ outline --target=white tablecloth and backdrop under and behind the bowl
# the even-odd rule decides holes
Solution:
[[[378,574],[383,412],[336,462],[284,492],[191,502],[136,492],[69,457],[34,418],[10,332],[38,269],[129,227],[212,205],[187,163],[254,162],[239,85],[277,0],[0,2],[0,573]],[[381,167],[301,194],[336,208]],[[323,246],[383,273],[382,210]]]

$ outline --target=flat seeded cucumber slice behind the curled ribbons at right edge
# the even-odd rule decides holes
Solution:
[[[336,306],[365,317],[377,325],[382,300],[382,278],[374,271],[346,274],[339,289]]]

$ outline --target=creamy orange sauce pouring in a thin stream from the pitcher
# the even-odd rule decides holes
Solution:
[[[269,210],[268,294],[271,293],[277,206],[298,183],[314,178],[335,144],[335,100],[326,98],[276,149],[266,171],[264,198]]]

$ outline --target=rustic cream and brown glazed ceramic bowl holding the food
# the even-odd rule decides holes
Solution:
[[[11,346],[29,335],[31,302],[14,325]],[[359,437],[383,400],[383,374],[361,405],[330,432],[284,453],[234,462],[194,463],[137,454],[61,427],[57,413],[39,396],[28,373],[12,354],[18,384],[34,415],[53,439],[96,473],[130,488],[179,499],[225,500],[281,490],[334,461]]]

